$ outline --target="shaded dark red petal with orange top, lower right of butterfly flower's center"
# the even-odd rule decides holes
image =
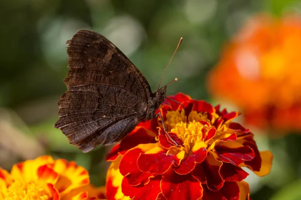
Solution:
[[[221,162],[217,161],[210,153],[202,162],[196,165],[192,174],[200,182],[207,182],[207,186],[212,190],[219,190],[225,182],[219,174]]]

